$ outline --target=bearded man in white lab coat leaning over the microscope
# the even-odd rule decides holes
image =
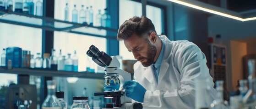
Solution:
[[[158,36],[147,17],[126,20],[118,30],[117,40],[138,60],[134,64],[134,79],[123,87],[127,97],[143,103],[145,109],[195,108],[194,79],[210,79],[205,99],[210,105],[216,95],[214,83],[202,51],[187,40],[170,41]],[[206,84],[207,85],[207,84]],[[114,86],[106,86],[105,90]]]

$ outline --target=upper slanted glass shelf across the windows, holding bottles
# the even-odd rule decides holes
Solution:
[[[56,20],[50,17],[28,15],[18,12],[8,12],[0,10],[0,22],[39,28],[50,31],[65,31],[81,35],[91,35],[108,39],[116,39],[116,36],[107,36],[107,32],[116,32],[117,29],[95,27],[86,23],[79,24],[63,20]]]

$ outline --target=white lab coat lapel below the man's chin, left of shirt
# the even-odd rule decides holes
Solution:
[[[144,67],[144,69],[143,76],[155,87],[157,81],[152,66]]]

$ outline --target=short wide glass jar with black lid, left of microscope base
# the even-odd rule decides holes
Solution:
[[[87,96],[73,97],[73,104],[70,109],[90,109]]]

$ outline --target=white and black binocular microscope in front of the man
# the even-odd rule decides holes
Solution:
[[[142,109],[141,103],[132,103],[131,98],[125,96],[125,91],[121,90],[127,80],[131,80],[131,74],[120,69],[120,62],[115,56],[109,56],[97,47],[91,45],[86,53],[93,61],[101,67],[104,67],[105,84],[110,85],[113,80],[114,84],[120,84],[119,90],[105,91],[94,93],[94,96],[104,96],[112,98],[112,103],[106,104],[105,109]]]

